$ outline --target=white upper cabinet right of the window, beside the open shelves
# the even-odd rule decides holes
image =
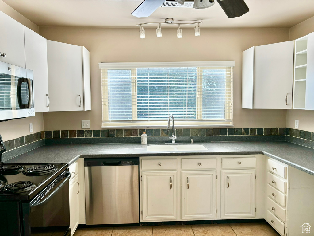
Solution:
[[[293,54],[293,41],[243,52],[242,108],[292,108]]]

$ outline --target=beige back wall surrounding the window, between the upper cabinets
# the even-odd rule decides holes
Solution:
[[[155,28],[145,29],[145,39],[138,28],[40,27],[40,34],[50,40],[86,47],[90,51],[91,111],[44,113],[45,130],[80,129],[81,120],[90,120],[91,129],[101,129],[101,88],[99,62],[162,62],[235,60],[235,127],[285,127],[286,110],[241,109],[242,51],[252,46],[289,40],[289,29],[238,28],[163,29],[156,37]]]

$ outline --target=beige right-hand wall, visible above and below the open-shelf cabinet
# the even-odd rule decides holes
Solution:
[[[290,40],[303,37],[314,32],[314,17],[290,28]],[[299,129],[314,132],[314,111],[287,110],[286,126],[295,127],[295,120],[299,120]]]

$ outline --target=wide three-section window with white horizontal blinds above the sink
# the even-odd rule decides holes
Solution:
[[[179,127],[232,125],[230,65],[108,64],[100,63],[103,126],[163,127],[170,114]]]

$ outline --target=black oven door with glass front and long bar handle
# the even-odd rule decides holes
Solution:
[[[22,204],[24,236],[64,236],[70,227],[69,178],[64,171],[30,203]]]

